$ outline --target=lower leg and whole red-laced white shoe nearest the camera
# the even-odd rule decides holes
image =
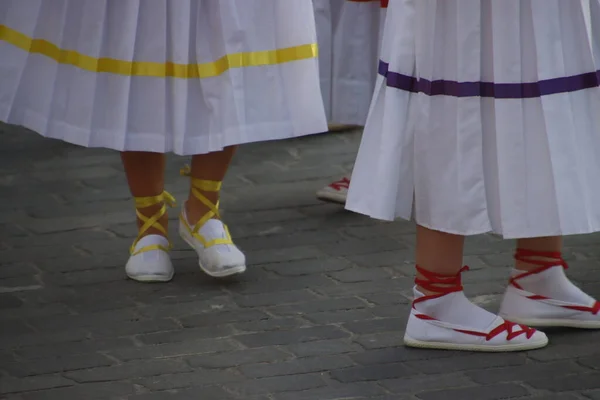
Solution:
[[[404,343],[412,347],[513,351],[547,344],[469,301],[462,289],[464,236],[417,227],[417,277]]]

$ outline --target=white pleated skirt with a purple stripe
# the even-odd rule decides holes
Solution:
[[[599,28],[599,0],[391,0],[347,208],[460,235],[600,230]]]

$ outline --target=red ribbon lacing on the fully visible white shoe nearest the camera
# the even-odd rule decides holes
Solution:
[[[426,296],[422,296],[413,300],[413,309],[416,310],[415,305],[427,300],[437,299],[442,296],[445,296],[450,293],[462,292],[463,286],[460,279],[460,274],[464,271],[468,271],[469,267],[465,266],[461,268],[458,274],[454,276],[440,275],[435,272],[428,271],[416,266],[417,272],[423,276],[423,278],[416,278],[415,283],[425,289],[426,291],[433,292],[435,294],[430,294]],[[441,285],[441,286],[440,286]],[[416,313],[415,316],[419,319],[425,321],[436,321],[435,318],[430,317],[429,315]],[[536,332],[535,329],[530,328],[525,325],[516,324],[510,321],[504,321],[504,323],[498,325],[496,328],[492,329],[490,332],[479,332],[465,329],[454,329],[456,332],[464,333],[467,335],[480,336],[484,337],[486,341],[493,339],[494,337],[506,332],[506,340],[510,341],[520,335],[525,335],[527,339],[531,338],[533,334]]]

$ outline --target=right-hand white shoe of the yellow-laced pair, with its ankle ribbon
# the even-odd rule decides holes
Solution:
[[[183,168],[181,175],[190,177],[192,195],[209,209],[195,224],[188,221],[185,207],[182,207],[179,216],[179,234],[198,254],[200,269],[214,278],[243,273],[246,271],[246,257],[233,243],[229,229],[219,219],[219,202],[213,204],[202,194],[218,192],[221,182],[193,178],[189,167]]]

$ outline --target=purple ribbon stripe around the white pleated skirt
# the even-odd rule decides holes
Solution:
[[[428,96],[493,97],[496,99],[530,99],[556,93],[576,92],[600,86],[600,71],[530,83],[429,81],[389,70],[389,64],[379,61],[379,74],[387,86]]]

